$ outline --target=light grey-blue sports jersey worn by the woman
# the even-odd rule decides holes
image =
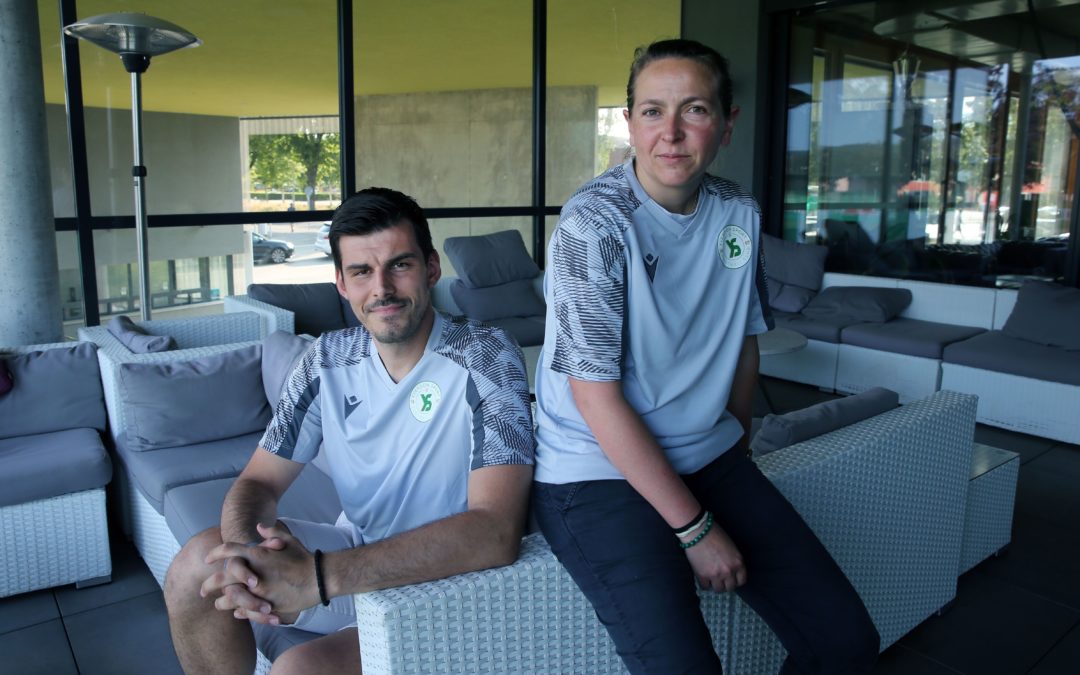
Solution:
[[[568,377],[622,381],[679,473],[742,435],[726,410],[747,335],[768,329],[760,212],[738,185],[706,176],[698,206],[653,202],[632,162],[581,188],[548,249],[548,320],[537,369],[537,470],[543,483],[622,478],[581,418]]]

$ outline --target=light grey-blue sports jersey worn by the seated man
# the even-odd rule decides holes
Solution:
[[[357,544],[465,511],[471,470],[532,463],[521,349],[435,312],[423,356],[394,382],[367,330],[324,333],[259,443],[299,462],[321,444]]]

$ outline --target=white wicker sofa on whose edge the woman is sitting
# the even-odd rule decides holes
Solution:
[[[756,460],[849,576],[882,649],[955,596],[974,423],[973,396],[939,392]],[[748,607],[702,599],[725,672],[778,671],[783,649]],[[623,672],[540,535],[508,567],[355,604],[365,673]]]

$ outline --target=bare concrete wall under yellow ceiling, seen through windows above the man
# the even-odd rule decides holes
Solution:
[[[595,87],[548,90],[549,203],[593,176]],[[356,186],[391,187],[424,207],[532,201],[532,93],[423,92],[356,99]]]

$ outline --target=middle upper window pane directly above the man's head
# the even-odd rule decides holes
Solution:
[[[359,188],[531,203],[531,2],[356,0],[353,27]]]

